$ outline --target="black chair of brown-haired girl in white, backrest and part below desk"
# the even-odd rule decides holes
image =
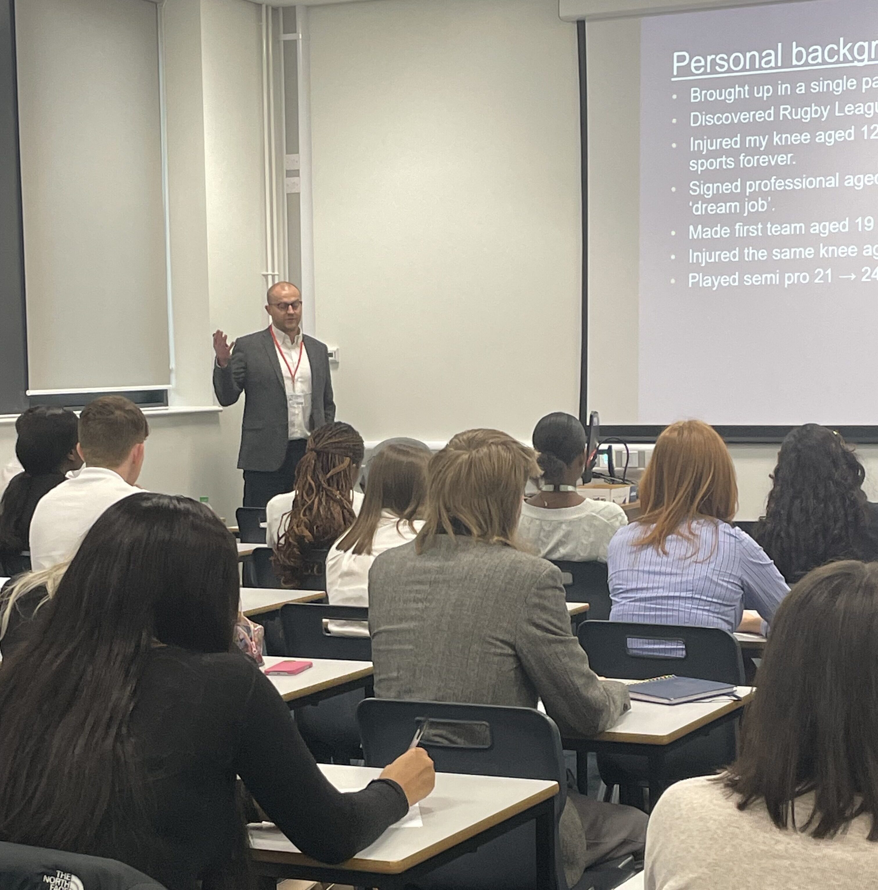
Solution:
[[[367,609],[355,606],[287,603],[280,610],[286,656],[371,661],[369,637],[334,636],[326,629],[328,619],[367,621],[368,617]],[[371,688],[342,692],[296,711],[302,738],[318,760],[345,763],[360,758],[357,706],[367,692],[371,694]]]

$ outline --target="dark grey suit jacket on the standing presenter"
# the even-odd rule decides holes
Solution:
[[[333,384],[326,345],[302,336],[311,366],[311,430],[335,419]],[[225,368],[213,363],[213,392],[225,407],[246,393],[238,469],[271,472],[286,457],[288,418],[284,376],[268,328],[238,337]]]

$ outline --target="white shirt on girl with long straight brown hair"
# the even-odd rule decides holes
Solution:
[[[382,510],[375,537],[372,538],[371,554],[355,554],[352,550],[339,550],[338,541],[329,548],[326,557],[326,595],[331,606],[368,606],[369,604],[369,569],[375,557],[385,550],[398,547],[415,540],[423,522],[412,523],[400,521],[399,516],[390,510]],[[344,537],[342,535],[342,537]],[[342,538],[339,538],[341,540]],[[368,636],[368,625],[363,621],[330,621],[330,633],[346,636]]]

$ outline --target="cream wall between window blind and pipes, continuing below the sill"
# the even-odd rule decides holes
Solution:
[[[262,53],[259,7],[165,0],[175,380],[173,404],[213,404],[211,333],[249,333],[262,312]],[[97,344],[100,348],[100,344]],[[141,484],[206,495],[230,521],[243,492],[240,406],[150,415]],[[0,425],[0,464],[14,454]]]

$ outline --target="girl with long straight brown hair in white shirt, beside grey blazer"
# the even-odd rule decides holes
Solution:
[[[427,493],[430,449],[387,445],[369,461],[366,499],[347,534],[326,557],[326,595],[334,606],[369,604],[369,569],[378,554],[415,539]],[[333,633],[368,636],[360,621],[330,621]]]

